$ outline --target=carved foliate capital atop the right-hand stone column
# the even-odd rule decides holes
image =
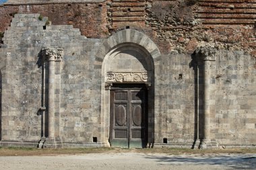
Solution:
[[[205,60],[215,61],[216,53],[217,53],[217,50],[214,47],[209,47],[209,46],[199,47],[195,50],[197,60],[203,60],[203,61]]]

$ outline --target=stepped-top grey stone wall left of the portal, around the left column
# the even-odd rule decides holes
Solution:
[[[43,89],[49,90],[40,50],[61,46],[65,56],[55,67],[55,78],[61,79],[59,87],[55,82],[55,134],[65,142],[91,142],[92,136],[100,136],[96,114],[100,103],[97,97],[92,98],[99,88],[92,85],[92,63],[100,40],[86,39],[72,26],[45,26],[47,18],[40,21],[38,16],[19,14],[5,31],[1,139],[38,144],[42,135],[40,108],[47,105]],[[44,65],[47,70],[49,65]]]

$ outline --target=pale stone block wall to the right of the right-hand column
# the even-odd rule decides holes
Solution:
[[[220,144],[254,144],[255,124],[255,59],[241,51],[217,54],[215,79],[216,112],[212,135]]]

